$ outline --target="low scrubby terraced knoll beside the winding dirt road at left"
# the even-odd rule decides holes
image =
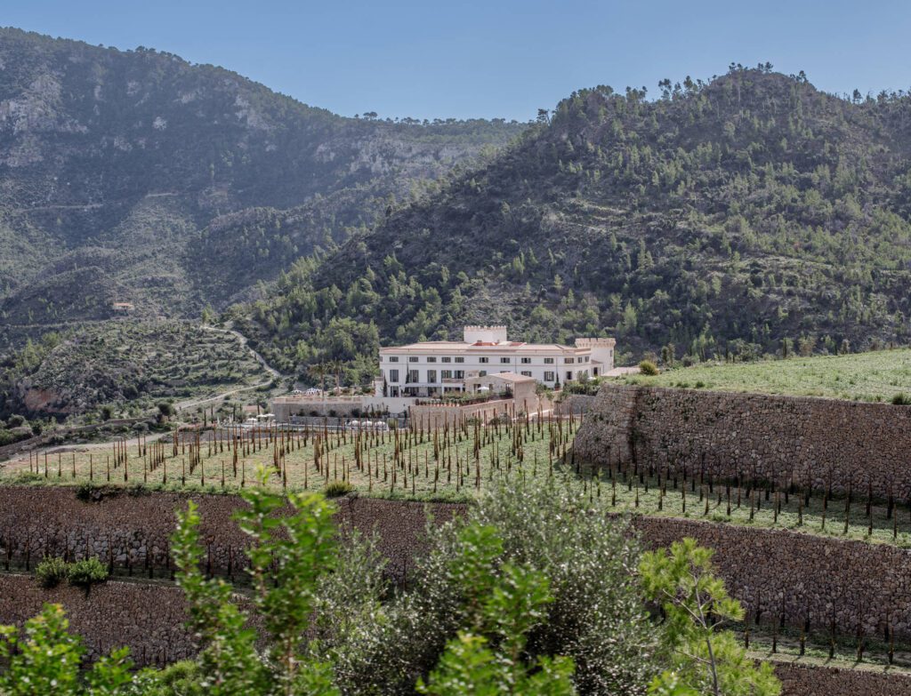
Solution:
[[[0,417],[138,415],[159,399],[210,396],[271,376],[230,334],[177,322],[116,321],[47,334],[0,363]]]

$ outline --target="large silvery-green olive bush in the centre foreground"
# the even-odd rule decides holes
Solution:
[[[433,671],[447,646],[486,664],[480,651],[496,655],[502,631],[482,630],[491,631],[487,603],[472,588],[508,588],[517,581],[507,580],[510,569],[521,569],[523,582],[546,580],[550,595],[536,603],[523,660],[567,657],[581,693],[644,694],[657,672],[657,636],[630,573],[638,547],[622,521],[605,523],[607,513],[562,484],[514,482],[482,497],[467,519],[431,530],[432,549],[409,570],[408,591],[354,651],[344,691],[409,693],[414,675]],[[486,642],[450,643],[460,633]]]

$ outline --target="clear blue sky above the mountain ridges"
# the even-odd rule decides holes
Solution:
[[[345,116],[528,120],[574,89],[769,61],[844,93],[911,86],[908,0],[6,0],[0,23],[212,63]]]

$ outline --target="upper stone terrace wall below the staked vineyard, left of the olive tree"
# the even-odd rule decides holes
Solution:
[[[231,519],[245,503],[237,496],[156,492],[130,495],[104,490],[100,499],[82,501],[67,487],[0,487],[0,567],[34,568],[44,555],[81,559],[97,556],[118,572],[161,576],[169,572],[169,536],[175,511],[192,499],[200,508],[201,537],[211,570],[240,570],[245,534]],[[398,578],[425,540],[426,505],[412,501],[344,498],[335,501],[343,530],[379,536]],[[463,506],[436,503],[434,517],[451,519]],[[88,550],[88,554],[86,553]]]

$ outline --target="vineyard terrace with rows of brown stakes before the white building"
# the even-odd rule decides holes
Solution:
[[[10,462],[0,482],[236,491],[250,486],[263,469],[274,489],[465,499],[492,481],[571,468],[578,426],[575,417],[526,416],[492,425],[464,420],[443,428],[418,422],[388,431],[183,429],[168,442],[139,436],[121,439],[107,451],[29,454]]]

